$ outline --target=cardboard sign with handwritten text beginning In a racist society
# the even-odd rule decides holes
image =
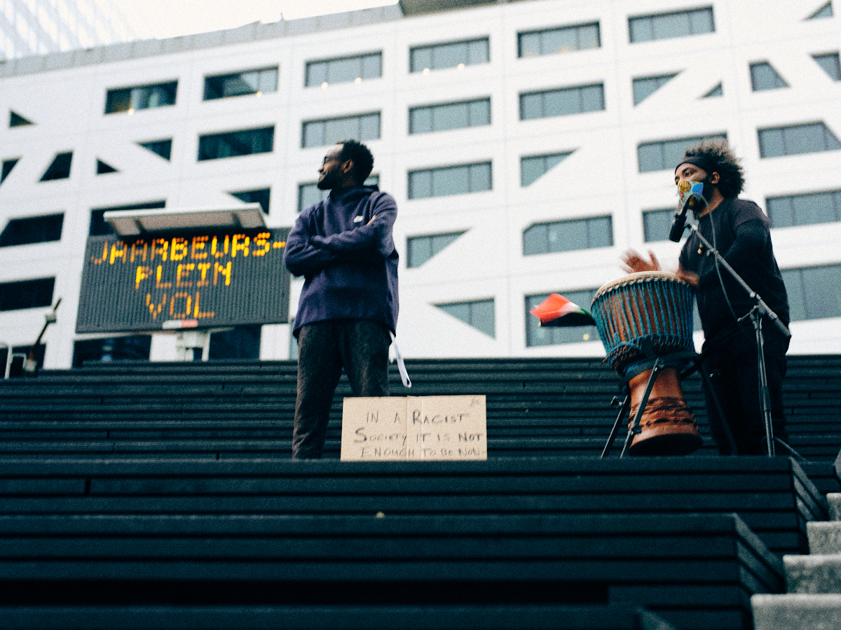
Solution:
[[[488,459],[485,398],[345,398],[341,459]]]

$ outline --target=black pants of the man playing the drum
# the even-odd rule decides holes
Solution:
[[[765,440],[765,423],[759,402],[759,372],[757,370],[756,336],[754,327],[746,322],[741,328],[735,326],[717,335],[704,347],[703,367],[710,375],[713,389],[727,418],[727,426],[733,432],[740,455],[768,454]],[[786,444],[785,413],[783,409],[783,378],[785,377],[785,352],[789,340],[763,320],[765,373],[771,401],[771,426],[774,437]],[[712,438],[719,453],[731,454],[722,417],[712,400],[709,388],[704,383],[706,409],[710,418]],[[775,444],[780,453],[780,444]]]

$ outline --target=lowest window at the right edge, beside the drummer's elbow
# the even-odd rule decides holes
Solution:
[[[792,322],[841,317],[841,265],[782,270]]]

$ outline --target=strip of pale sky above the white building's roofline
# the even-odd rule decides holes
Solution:
[[[164,39],[311,15],[381,7],[396,0],[113,0],[137,39]]]

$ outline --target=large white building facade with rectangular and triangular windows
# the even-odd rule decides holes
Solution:
[[[12,230],[0,238],[0,341],[31,344],[63,297],[45,365],[71,365],[85,340],[74,333],[84,245],[104,208],[241,199],[291,226],[317,198],[326,145],[353,136],[398,202],[405,356],[601,355],[595,331],[538,329],[527,308],[550,292],[589,307],[628,247],[676,266],[675,160],[726,135],[742,196],[774,226],[790,352],[841,352],[833,3],[459,4],[404,0],[0,66],[0,218]],[[157,333],[151,358],[173,348]],[[288,325],[262,327],[259,348],[288,358]]]

